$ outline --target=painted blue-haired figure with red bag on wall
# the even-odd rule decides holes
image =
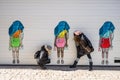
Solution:
[[[108,64],[108,51],[112,48],[112,40],[113,40],[113,33],[115,27],[111,21],[106,21],[102,27],[99,29],[99,49],[98,51],[102,50],[102,61],[101,64]],[[105,56],[106,55],[106,56]],[[105,60],[106,59],[106,60]]]

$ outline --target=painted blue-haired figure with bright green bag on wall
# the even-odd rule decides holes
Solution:
[[[19,20],[14,21],[9,27],[9,50],[12,50],[13,64],[15,64],[16,61],[17,63],[20,62],[19,49],[23,47],[23,30],[24,26]]]

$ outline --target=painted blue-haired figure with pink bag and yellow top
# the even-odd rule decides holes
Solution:
[[[68,47],[68,34],[69,34],[69,25],[66,21],[60,21],[58,25],[54,29],[54,47],[57,48],[57,64],[61,63],[64,64],[64,48]]]

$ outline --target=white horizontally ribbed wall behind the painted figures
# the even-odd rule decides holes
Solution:
[[[65,50],[64,65],[72,64],[76,57],[73,31],[84,32],[92,41],[94,65],[101,65],[101,52],[98,52],[99,28],[105,21],[115,25],[113,50],[109,52],[109,65],[115,57],[120,57],[120,0],[0,0],[0,64],[12,64],[12,52],[8,50],[8,28],[14,20],[25,26],[24,49],[20,50],[20,64],[36,64],[34,53],[42,44],[54,43],[54,28],[59,21],[69,23],[69,48]],[[56,51],[52,50],[52,65],[56,65]],[[84,56],[79,65],[88,64]]]

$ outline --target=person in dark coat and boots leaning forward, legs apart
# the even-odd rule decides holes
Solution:
[[[75,41],[76,50],[77,50],[77,58],[74,61],[73,65],[70,66],[70,68],[76,68],[76,65],[77,65],[79,59],[82,56],[87,55],[87,57],[89,59],[89,70],[91,71],[93,62],[92,62],[92,57],[91,57],[90,53],[94,51],[94,48],[93,48],[91,42],[84,35],[84,33],[80,32],[78,30],[74,32],[74,41]]]

